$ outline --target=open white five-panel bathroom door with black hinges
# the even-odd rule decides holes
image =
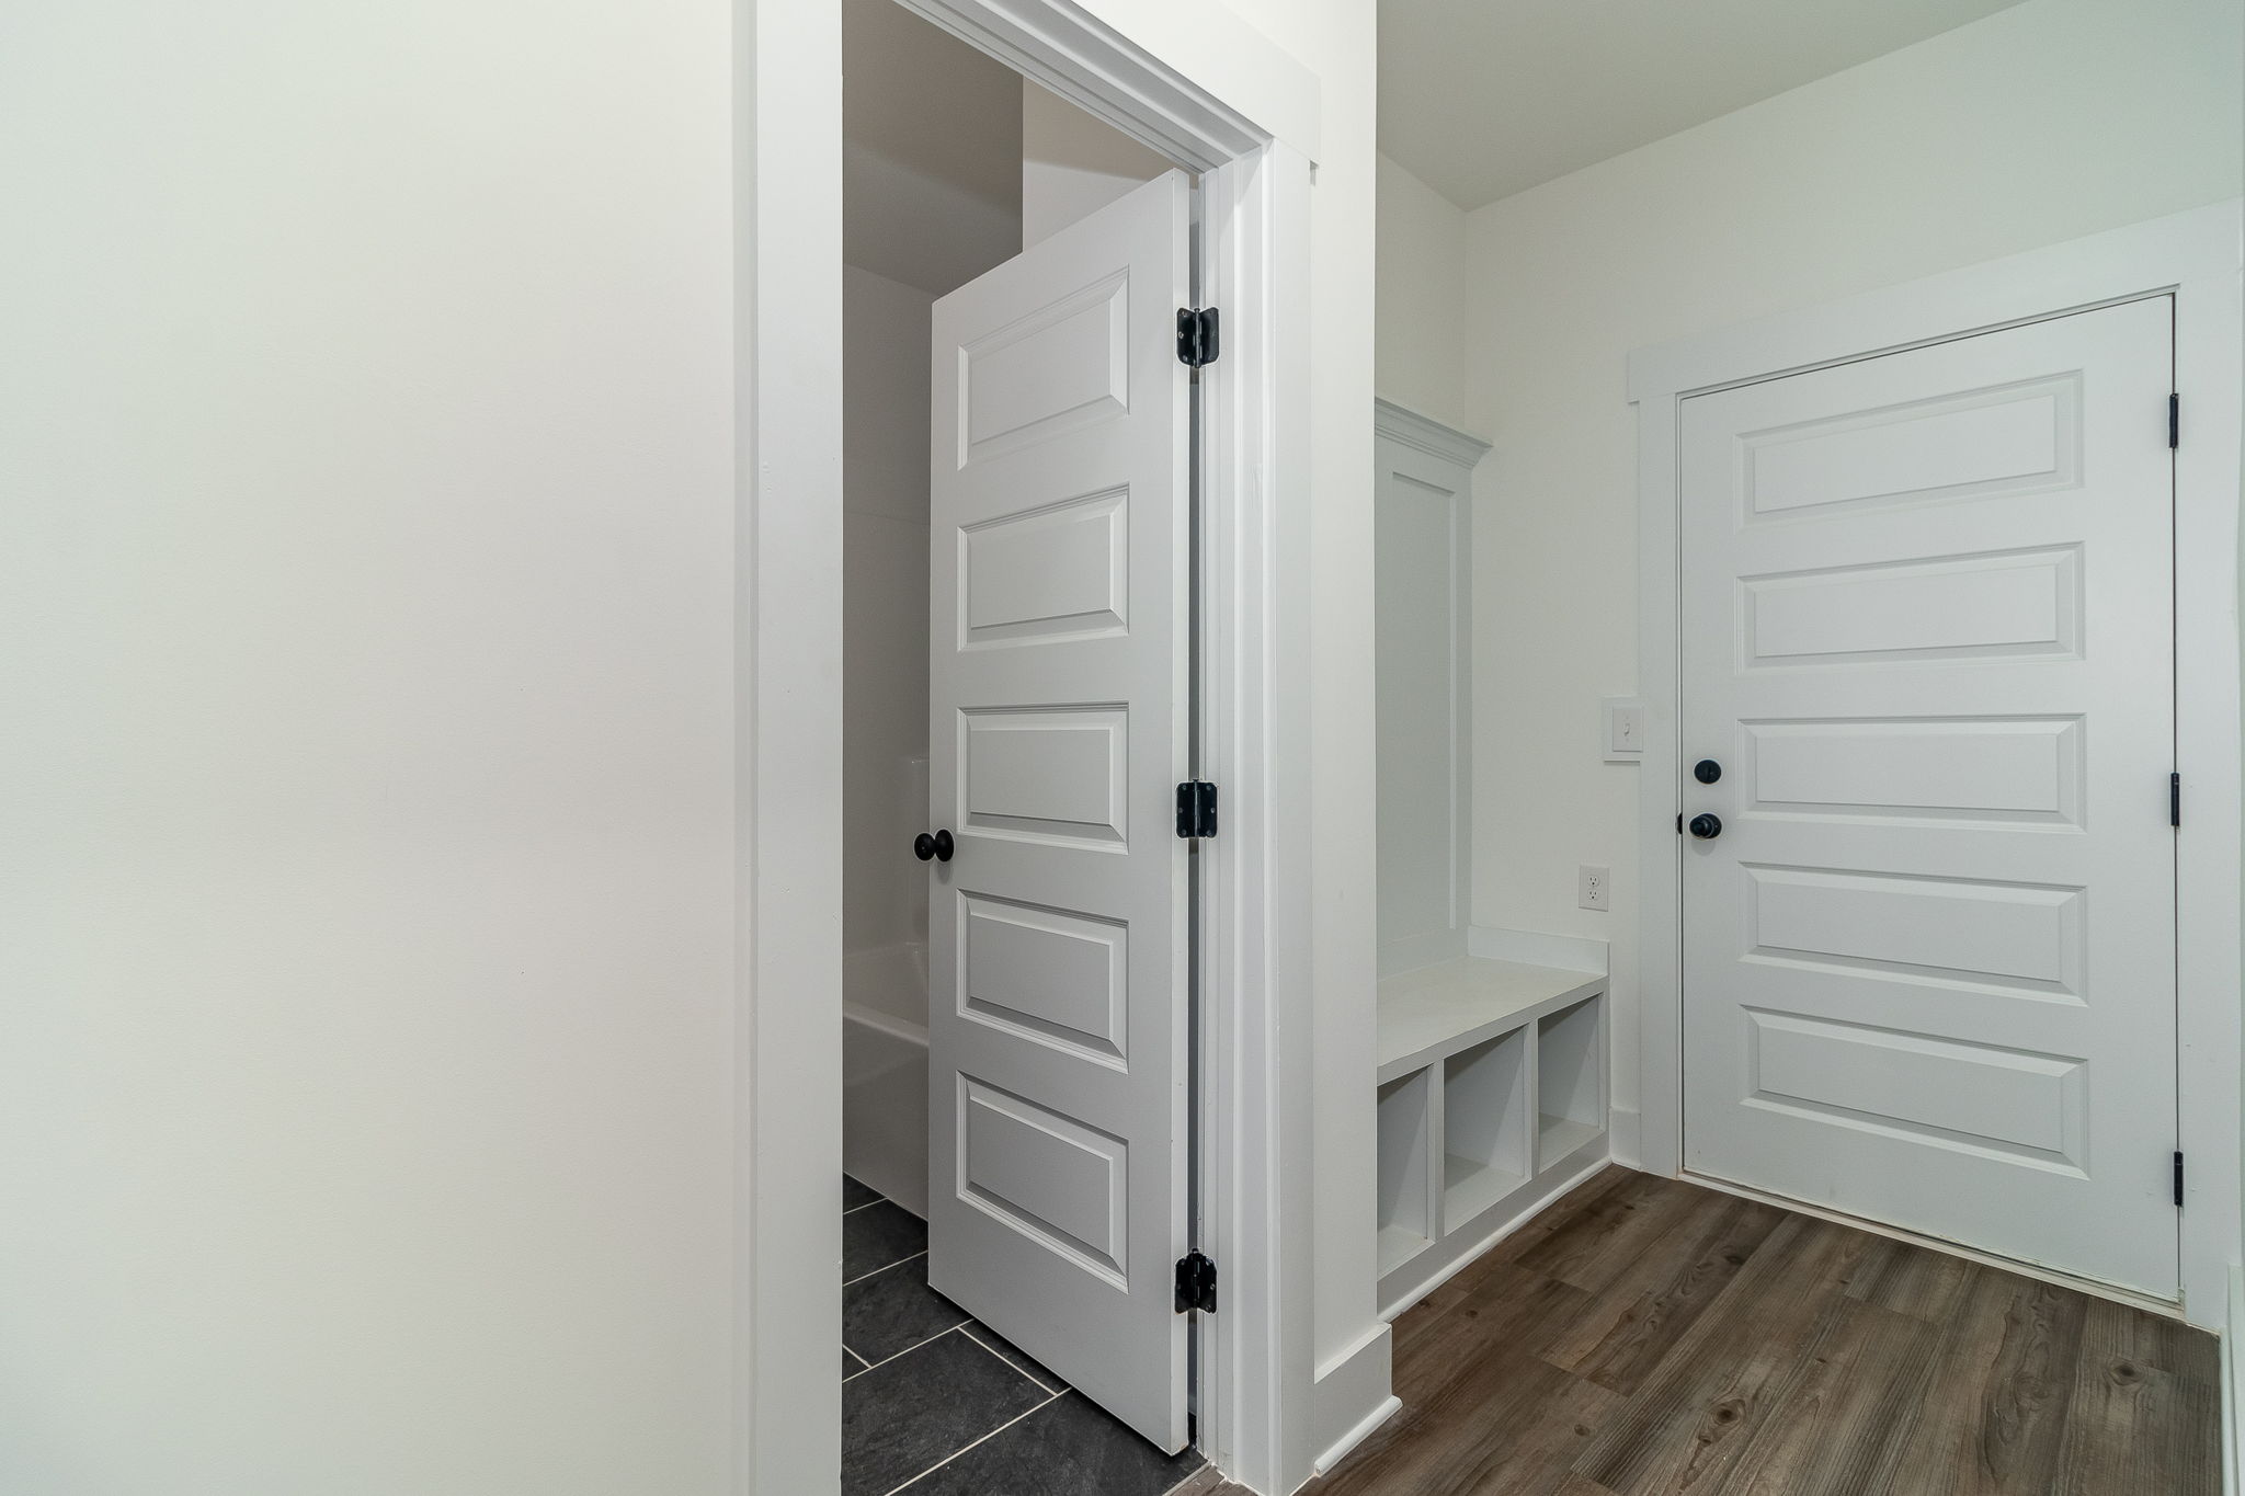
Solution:
[[[1183,173],[934,310],[929,1283],[1185,1444]]]

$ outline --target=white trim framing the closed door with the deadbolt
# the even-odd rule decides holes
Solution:
[[[2146,296],[2175,298],[2175,1110],[2189,1157],[2180,1310],[2205,1328],[2227,1312],[2238,1258],[2238,991],[2245,946],[2241,857],[2241,202],[2229,200],[1944,276],[1726,327],[1630,354],[1637,406],[1639,695],[1646,769],[1639,792],[1639,978],[1634,1036],[1616,1025],[1616,1070],[1639,1077],[1639,1160],[1684,1164],[1682,807],[1677,758],[1677,428],[1688,395],[1946,343]],[[1661,769],[1659,765],[1666,765]]]

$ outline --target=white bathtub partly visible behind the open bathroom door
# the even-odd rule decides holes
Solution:
[[[842,1169],[927,1216],[927,946],[842,958]]]

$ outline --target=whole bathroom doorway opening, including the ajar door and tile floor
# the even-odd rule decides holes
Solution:
[[[842,1489],[1161,1496],[1203,1465],[1192,182],[842,18]]]

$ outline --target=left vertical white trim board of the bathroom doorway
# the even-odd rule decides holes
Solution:
[[[842,1312],[840,16],[743,0],[734,47],[734,1489],[831,1492],[842,1382],[801,1368]]]

